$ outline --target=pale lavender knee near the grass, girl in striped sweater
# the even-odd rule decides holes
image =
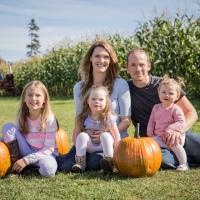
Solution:
[[[50,159],[49,161],[47,161],[47,159],[42,159],[39,161],[39,166],[39,172],[44,177],[54,176],[58,167],[56,160],[53,161],[53,159]]]

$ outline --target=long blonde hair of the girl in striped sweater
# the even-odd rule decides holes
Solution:
[[[38,80],[34,80],[26,84],[21,94],[21,104],[18,111],[19,128],[23,134],[27,134],[29,131],[28,122],[27,122],[27,118],[29,116],[29,109],[25,103],[26,91],[29,87],[37,87],[44,94],[44,104],[43,104],[43,108],[41,109],[40,131],[44,131],[46,129],[47,118],[49,114],[51,113],[49,93],[45,85],[41,81],[38,81]]]

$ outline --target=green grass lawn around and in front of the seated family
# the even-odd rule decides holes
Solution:
[[[200,103],[192,101],[200,111]],[[74,124],[73,100],[52,98],[52,108],[60,126],[68,134]],[[0,128],[6,122],[15,122],[19,98],[0,98]],[[200,132],[200,121],[193,131]],[[129,129],[132,132],[132,128]],[[104,175],[99,172],[83,174],[58,173],[53,178],[37,174],[0,179],[0,199],[200,199],[200,169],[178,173],[172,170],[159,171],[153,177],[131,178],[119,174]]]

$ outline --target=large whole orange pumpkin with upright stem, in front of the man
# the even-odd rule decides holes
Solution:
[[[139,130],[139,129],[138,129]],[[160,168],[162,154],[160,146],[151,137],[127,137],[122,139],[114,151],[114,164],[125,176],[152,176]]]

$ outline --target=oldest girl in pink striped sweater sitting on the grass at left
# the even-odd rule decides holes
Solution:
[[[56,129],[46,87],[41,81],[29,82],[22,91],[17,125],[8,123],[2,131],[11,154],[12,172],[20,173],[34,165],[42,176],[54,176]]]

